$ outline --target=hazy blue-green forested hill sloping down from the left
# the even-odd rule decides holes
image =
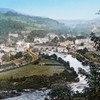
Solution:
[[[0,35],[8,34],[9,32],[31,30],[67,32],[65,25],[56,20],[38,16],[28,16],[10,9],[0,9]]]

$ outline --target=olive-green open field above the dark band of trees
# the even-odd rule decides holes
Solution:
[[[53,75],[54,73],[61,73],[64,70],[63,66],[47,66],[47,65],[33,65],[29,64],[14,70],[1,72],[0,79],[22,78],[32,75]]]

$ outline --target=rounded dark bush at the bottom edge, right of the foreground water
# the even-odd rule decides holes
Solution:
[[[71,90],[65,84],[56,83],[52,85],[49,96],[52,100],[71,100]]]

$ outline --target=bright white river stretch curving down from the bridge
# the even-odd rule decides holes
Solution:
[[[78,69],[82,68],[87,73],[89,73],[90,72],[90,67],[89,66],[83,66],[80,61],[78,61],[76,58],[72,57],[72,55],[70,55],[70,54],[66,54],[65,55],[65,54],[60,54],[60,53],[57,53],[57,52],[48,52],[47,54],[49,54],[49,55],[56,54],[57,57],[61,57],[64,61],[69,61],[70,67],[74,68],[74,70],[78,74],[79,82],[68,84],[71,87],[71,89],[72,89],[72,91],[74,93],[76,93],[77,91],[78,92],[82,92],[82,90],[84,89],[84,87],[88,87],[88,83],[87,83],[86,77],[80,75],[78,73]]]

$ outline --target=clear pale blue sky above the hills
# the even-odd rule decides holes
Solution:
[[[64,20],[91,20],[99,15],[100,0],[0,0],[0,8]]]

